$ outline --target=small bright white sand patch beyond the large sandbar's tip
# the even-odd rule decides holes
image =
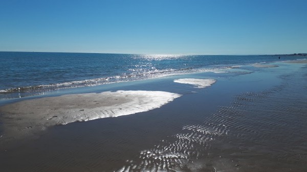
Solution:
[[[216,80],[185,78],[185,79],[174,80],[174,82],[181,83],[181,84],[191,84],[191,85],[194,85],[195,88],[206,88],[214,84]]]

